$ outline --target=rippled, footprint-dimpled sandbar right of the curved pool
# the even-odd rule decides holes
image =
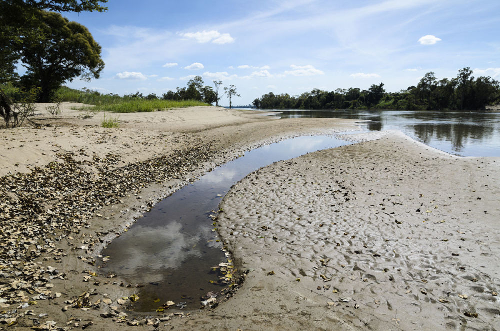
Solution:
[[[197,329],[498,330],[499,178],[400,133],[253,172],[217,225],[250,272]]]

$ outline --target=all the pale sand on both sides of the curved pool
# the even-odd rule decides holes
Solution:
[[[38,231],[42,246],[42,254],[29,262],[22,261],[37,248],[27,240],[22,243],[23,239],[24,247],[15,246],[19,236],[11,229],[17,224],[26,231],[22,227],[32,220],[5,217],[3,205],[26,201],[15,200],[23,196],[17,187],[0,188],[5,197],[0,201],[2,236],[14,240],[11,246],[2,246],[0,255],[0,296],[16,298],[0,300],[4,310],[0,319],[12,323],[10,329],[29,330],[33,325],[39,330],[55,326],[500,329],[496,295],[500,290],[500,159],[454,157],[398,132],[356,136],[364,142],[277,162],[236,184],[221,204],[217,229],[247,275],[234,296],[214,310],[184,316],[153,314],[149,320],[128,312],[126,317],[123,313],[121,318],[108,317],[113,309],[124,312],[118,300],[140,289],[119,286],[119,275],[104,278],[92,261],[106,242],[135,219],[140,222],[141,212],[244,150],[290,136],[353,131],[355,123],[277,120],[251,112],[194,107],[122,114],[119,128],[104,129],[99,126],[102,113],[82,119],[80,112],[69,109],[74,105],[64,106],[61,116],[37,115],[37,121],[54,126],[0,131],[1,175],[14,174],[11,182],[21,183],[22,173],[30,178],[34,166],[44,169],[56,161],[62,175],[52,175],[57,178],[53,181],[72,185],[71,191],[54,189],[63,199],[35,206],[39,209],[31,214],[38,215],[34,218],[48,215],[66,220],[67,226],[54,224],[57,230],[51,230],[50,223],[29,225]],[[73,153],[70,158],[68,153]],[[108,153],[115,156],[106,158]],[[116,173],[120,176],[115,177]],[[72,181],[65,183],[65,178]],[[28,186],[18,186],[27,191]],[[95,192],[117,186],[114,195],[97,199]],[[95,199],[83,204],[79,196]],[[68,206],[81,211],[80,219],[67,218]],[[25,254],[20,264],[15,262],[15,252]],[[32,288],[19,286],[32,281],[26,275],[36,269],[33,265],[38,271],[29,275],[44,275],[46,296],[53,298],[34,300]],[[16,288],[10,287],[15,282]],[[81,302],[87,295],[78,296],[84,292],[89,307],[64,309]],[[36,304],[29,304],[32,301]],[[22,308],[14,312],[17,307]],[[162,321],[156,320],[162,316]]]

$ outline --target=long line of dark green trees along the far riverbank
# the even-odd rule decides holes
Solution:
[[[420,79],[417,86],[399,92],[385,92],[383,83],[368,90],[357,87],[337,88],[327,92],[313,89],[297,96],[272,92],[253,100],[255,108],[301,109],[484,109],[500,101],[500,84],[491,77],[474,79],[469,67],[458,70],[455,78],[437,80],[433,72]]]

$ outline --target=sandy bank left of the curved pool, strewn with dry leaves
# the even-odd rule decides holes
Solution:
[[[126,315],[140,288],[99,273],[106,243],[246,149],[355,129],[352,120],[278,121],[216,107],[122,114],[120,127],[102,128],[103,114],[70,109],[79,105],[63,104],[59,116],[37,106],[33,119],[47,126],[0,131],[0,323],[16,330],[164,324],[170,314]]]

